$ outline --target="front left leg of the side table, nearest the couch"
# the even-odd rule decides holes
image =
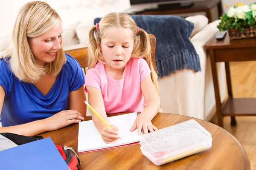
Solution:
[[[221,113],[221,97],[220,97],[218,74],[217,74],[217,69],[216,69],[214,50],[210,49],[209,54],[210,54],[211,66],[212,66],[212,80],[213,80],[214,92],[215,92],[215,102],[216,102],[216,113],[217,113],[217,118],[218,118],[218,126],[223,127],[223,120],[222,120],[222,113]]]

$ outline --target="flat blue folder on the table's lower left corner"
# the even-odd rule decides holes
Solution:
[[[1,170],[68,170],[51,138],[0,151]]]

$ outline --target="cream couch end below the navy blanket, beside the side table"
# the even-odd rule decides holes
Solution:
[[[163,112],[177,113],[209,121],[216,112],[215,94],[209,55],[204,45],[218,31],[216,20],[204,26],[204,16],[186,18],[195,23],[195,33],[190,41],[200,58],[201,72],[192,70],[176,71],[159,80],[161,107]],[[207,21],[208,22],[208,21]],[[198,26],[197,24],[200,24]],[[217,64],[221,102],[226,97],[226,77],[224,63]]]

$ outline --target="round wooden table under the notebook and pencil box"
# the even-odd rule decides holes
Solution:
[[[116,114],[114,114],[116,115]],[[112,115],[112,116],[114,116]],[[158,113],[152,120],[159,129],[180,122],[195,119],[169,113]],[[85,117],[91,120],[91,116]],[[212,147],[201,153],[164,164],[154,165],[140,151],[140,144],[81,153],[81,170],[249,170],[250,163],[246,152],[234,136],[212,123],[195,119],[212,134]],[[88,129],[89,130],[89,129]],[[77,152],[78,124],[73,124],[59,130],[42,133],[44,138],[51,137],[57,145],[73,147]]]

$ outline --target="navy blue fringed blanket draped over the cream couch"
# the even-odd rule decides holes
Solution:
[[[156,63],[159,77],[184,68],[201,71],[200,61],[189,36],[194,24],[171,15],[131,15],[137,26],[154,34],[157,40]],[[96,18],[94,24],[101,18]]]

